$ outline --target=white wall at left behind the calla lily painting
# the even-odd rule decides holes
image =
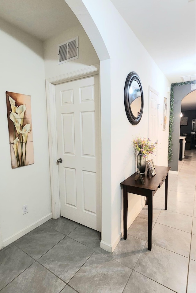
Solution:
[[[0,223],[4,245],[51,218],[43,44],[0,21]],[[6,91],[31,96],[33,165],[12,169]],[[23,215],[22,206],[28,204]]]

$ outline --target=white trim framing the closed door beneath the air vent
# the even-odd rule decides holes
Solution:
[[[87,68],[66,73],[57,77],[46,79],[46,106],[47,106],[47,125],[48,125],[48,147],[50,163],[50,181],[51,181],[51,201],[52,201],[52,218],[57,219],[61,216],[60,211],[60,192],[59,192],[59,175],[57,148],[57,131],[56,131],[56,103],[55,103],[55,85],[63,82],[69,82],[93,75],[100,77],[100,64],[88,66]],[[101,161],[101,157],[100,157]],[[100,166],[101,171],[101,166]],[[100,174],[101,181],[101,174]],[[100,189],[101,190],[101,189]]]

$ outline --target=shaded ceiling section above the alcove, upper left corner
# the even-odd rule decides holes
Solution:
[[[64,0],[0,0],[0,17],[43,41],[79,24]]]

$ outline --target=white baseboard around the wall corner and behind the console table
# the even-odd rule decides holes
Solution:
[[[144,206],[145,206],[145,201],[141,204],[141,206],[138,208],[138,210],[135,211],[135,213],[130,217],[129,222],[127,222],[127,229],[134,222],[135,218],[138,216],[138,214],[141,212],[141,210],[143,209]],[[113,241],[112,244],[108,244],[108,243],[104,242],[103,240],[101,240],[100,247],[106,251],[113,252],[115,250],[117,244],[119,243],[119,241],[123,237],[123,235],[124,235],[124,233],[123,233],[123,231],[121,231],[119,233],[119,235],[116,237],[115,241]]]

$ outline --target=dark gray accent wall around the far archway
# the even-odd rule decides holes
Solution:
[[[181,101],[191,91],[191,84],[174,86],[173,156],[171,158],[172,161],[168,163],[168,166],[171,167],[171,171],[178,171]]]

